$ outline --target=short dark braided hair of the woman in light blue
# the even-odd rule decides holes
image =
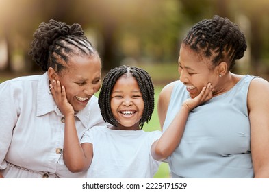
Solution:
[[[215,67],[222,61],[227,62],[230,70],[235,60],[244,56],[247,47],[238,25],[218,15],[196,23],[183,39],[183,45],[207,58],[212,57]]]

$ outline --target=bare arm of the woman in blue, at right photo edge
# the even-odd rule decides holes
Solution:
[[[269,178],[269,83],[257,78],[248,89],[251,156],[255,178]]]

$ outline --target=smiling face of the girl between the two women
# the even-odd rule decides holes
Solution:
[[[120,130],[139,130],[144,100],[136,78],[126,73],[119,77],[112,89],[110,105]]]

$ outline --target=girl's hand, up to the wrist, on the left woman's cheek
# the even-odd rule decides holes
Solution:
[[[49,84],[51,89],[51,94],[58,108],[62,112],[64,116],[66,115],[74,115],[75,111],[73,106],[68,102],[66,98],[66,91],[64,86],[61,86],[60,81],[52,80],[51,84]]]

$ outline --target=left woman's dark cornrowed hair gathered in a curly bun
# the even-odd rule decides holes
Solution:
[[[92,55],[96,52],[90,41],[84,36],[81,25],[67,25],[53,19],[49,23],[42,22],[31,42],[29,55],[43,71],[53,67],[60,72],[64,62],[74,54]]]

